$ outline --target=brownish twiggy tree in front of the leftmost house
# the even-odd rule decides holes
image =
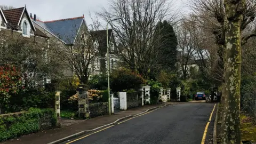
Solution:
[[[61,62],[49,50],[47,38],[25,38],[20,35],[0,35],[0,64],[11,64],[21,69],[26,89],[43,86],[47,77],[60,76]]]

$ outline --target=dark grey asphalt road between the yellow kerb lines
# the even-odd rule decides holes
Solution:
[[[213,107],[213,103],[167,106],[72,143],[201,143]]]

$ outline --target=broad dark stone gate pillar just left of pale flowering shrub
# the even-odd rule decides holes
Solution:
[[[79,87],[77,89],[77,96],[78,96],[78,117],[87,118],[90,116],[89,113],[89,98],[88,92]]]

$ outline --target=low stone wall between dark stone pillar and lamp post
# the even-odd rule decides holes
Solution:
[[[108,102],[97,102],[89,105],[90,117],[108,114]]]

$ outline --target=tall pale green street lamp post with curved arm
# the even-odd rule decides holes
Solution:
[[[112,20],[109,20],[109,22],[114,20],[119,20],[121,18],[115,18]],[[110,71],[110,65],[109,65],[109,43],[108,43],[108,23],[107,23],[107,59],[108,59],[108,113],[111,115],[111,103],[110,103],[110,84],[109,84],[109,71]]]

